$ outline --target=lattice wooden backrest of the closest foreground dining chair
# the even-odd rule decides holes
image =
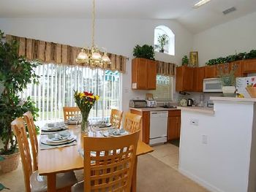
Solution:
[[[84,137],[84,191],[130,191],[138,138]]]

